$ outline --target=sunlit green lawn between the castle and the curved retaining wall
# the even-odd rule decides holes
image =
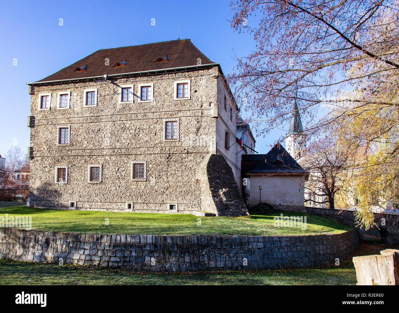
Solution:
[[[306,230],[275,227],[273,217],[306,215]],[[75,233],[126,233],[146,235],[311,235],[353,229],[334,219],[306,213],[276,211],[251,217],[197,217],[190,214],[119,213],[0,207],[0,216],[32,216],[32,229]],[[109,225],[106,221],[109,219]],[[199,225],[200,222],[200,225]]]

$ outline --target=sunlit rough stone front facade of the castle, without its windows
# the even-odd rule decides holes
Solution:
[[[36,207],[165,213],[201,209],[199,165],[215,146],[217,67],[105,82],[34,86],[31,115],[30,204]],[[174,100],[176,81],[190,80],[190,99]],[[153,101],[138,102],[138,85],[153,84]],[[132,103],[120,103],[120,86],[133,85]],[[97,88],[97,106],[85,107],[84,91]],[[57,109],[58,92],[70,92],[68,109]],[[49,110],[39,95],[51,93]],[[217,110],[217,106],[216,106]],[[178,141],[165,142],[164,119],[179,120]],[[70,127],[70,144],[57,145],[58,126]],[[132,181],[131,162],[146,162],[146,180]],[[88,182],[88,165],[101,165],[101,182]],[[68,166],[67,183],[55,183],[55,166]]]

